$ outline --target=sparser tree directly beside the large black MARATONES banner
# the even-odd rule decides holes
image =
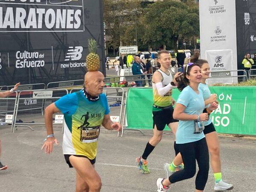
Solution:
[[[140,3],[141,0],[103,0],[103,21],[110,40],[107,46],[113,47],[114,55],[127,26],[134,24],[133,12],[140,9]]]

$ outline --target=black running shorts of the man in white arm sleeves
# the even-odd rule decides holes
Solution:
[[[158,131],[163,131],[166,125],[179,122],[179,120],[173,119],[173,111],[173,107],[162,109],[161,111],[153,111],[153,128],[156,125]]]

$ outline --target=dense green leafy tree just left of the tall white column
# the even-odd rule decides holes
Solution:
[[[143,10],[145,23],[143,42],[165,47],[171,41],[177,49],[177,40],[199,35],[198,6],[191,0],[182,3],[175,0],[157,1]]]

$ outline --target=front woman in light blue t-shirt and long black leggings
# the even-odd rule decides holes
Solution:
[[[196,192],[203,191],[208,179],[209,152],[204,137],[202,122],[209,119],[208,113],[203,113],[203,92],[198,89],[202,74],[198,64],[189,63],[184,69],[183,76],[177,78],[178,89],[182,90],[174,109],[173,117],[180,120],[176,143],[182,156],[184,169],[173,173],[167,179],[157,179],[157,191],[167,191],[171,183],[194,177],[196,173],[196,161],[199,171],[195,180]],[[209,106],[213,110],[217,105]]]

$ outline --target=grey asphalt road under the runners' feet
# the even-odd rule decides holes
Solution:
[[[72,192],[75,189],[75,170],[70,169],[62,155],[61,128],[55,128],[60,145],[52,154],[41,151],[44,127],[35,131],[19,128],[14,134],[9,126],[0,126],[2,141],[1,161],[8,166],[0,171],[1,192]],[[156,179],[164,177],[163,164],[174,157],[173,135],[164,134],[163,140],[148,157],[151,173],[143,175],[135,158],[144,150],[151,131],[142,136],[126,131],[124,137],[102,128],[99,137],[96,170],[102,178],[102,192],[156,192]],[[233,192],[256,191],[256,140],[220,136],[223,179],[234,184]],[[205,191],[213,191],[212,171]],[[175,183],[169,191],[191,192],[195,177]]]

